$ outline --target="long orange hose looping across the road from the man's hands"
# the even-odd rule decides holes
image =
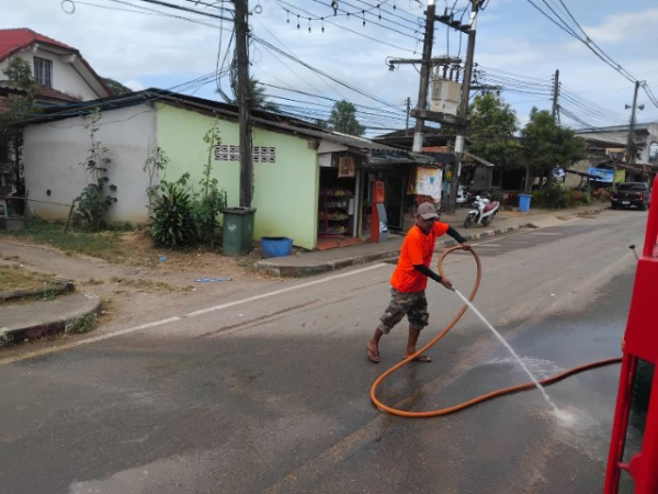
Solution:
[[[457,245],[454,247],[451,247],[449,249],[446,249],[441,257],[439,258],[439,273],[444,277],[444,272],[443,272],[443,260],[445,259],[445,257],[451,254],[454,252],[455,250],[461,250],[463,249],[462,246]],[[479,283],[481,280],[481,265],[480,265],[480,260],[478,255],[473,250],[468,250],[472,255],[473,258],[475,259],[475,262],[477,265],[477,277],[475,280],[475,284],[473,285],[473,290],[470,291],[470,294],[468,295],[468,301],[473,302],[473,299],[475,299],[475,294],[477,293],[477,290],[479,288]],[[423,352],[426,352],[427,350],[429,350],[430,348],[432,348],[434,345],[436,345],[439,343],[439,340],[441,338],[443,338],[447,332],[450,332],[453,326],[457,323],[457,321],[460,321],[462,318],[462,316],[464,315],[464,313],[466,312],[466,310],[468,308],[468,305],[464,304],[464,306],[462,307],[462,310],[457,313],[457,315],[447,324],[447,326],[445,326],[443,328],[443,330],[436,335],[430,343],[428,343],[424,347],[422,347],[420,350],[418,350],[416,353],[410,355],[409,357],[407,357],[405,360],[396,363],[395,366],[393,366],[390,369],[388,369],[386,372],[384,372],[382,375],[379,375],[376,381],[373,383],[373,386],[371,388],[371,401],[373,402],[373,404],[384,411],[384,412],[388,412],[392,415],[398,415],[400,417],[411,417],[411,418],[423,418],[423,417],[439,417],[441,415],[449,415],[449,414],[453,414],[455,412],[458,412],[461,409],[464,408],[468,408],[469,406],[476,405],[478,403],[483,403],[486,402],[487,400],[491,400],[496,396],[501,396],[503,394],[511,394],[511,393],[515,393],[518,391],[522,391],[522,390],[529,390],[531,388],[535,388],[535,384],[532,382],[526,382],[523,384],[518,384],[514,386],[510,386],[510,388],[504,388],[502,390],[497,390],[497,391],[492,391],[490,393],[487,394],[483,394],[481,396],[477,396],[473,400],[468,400],[467,402],[464,403],[460,403],[457,405],[454,406],[449,406],[447,408],[441,408],[441,409],[434,409],[434,411],[430,411],[430,412],[407,412],[404,409],[397,409],[397,408],[393,408],[390,406],[385,405],[384,403],[382,403],[377,396],[376,396],[376,390],[377,386],[379,384],[382,384],[382,382],[390,374],[393,374],[395,371],[397,371],[398,369],[400,369],[402,366],[409,363],[411,360],[413,360],[416,357],[419,357],[420,355],[422,355]],[[622,358],[612,358],[612,359],[606,359],[606,360],[600,360],[597,362],[592,362],[592,363],[587,363],[585,366],[580,366],[580,367],[576,367],[574,369],[569,369],[560,374],[554,375],[552,378],[547,378],[544,379],[542,381],[540,381],[540,384],[542,385],[548,385],[548,384],[553,384],[555,382],[561,381],[565,378],[568,378],[569,375],[574,375],[577,374],[579,372],[583,372],[586,370],[590,370],[590,369],[594,369],[597,367],[602,367],[602,366],[609,366],[611,363],[619,363],[622,361]]]

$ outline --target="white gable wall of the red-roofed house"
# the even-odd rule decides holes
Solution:
[[[82,78],[73,66],[66,61],[70,59],[70,55],[58,55],[53,52],[46,52],[43,48],[32,48],[20,52],[16,56],[27,60],[34,76],[34,57],[45,58],[53,61],[53,89],[65,92],[69,96],[81,98],[82,101],[98,100],[105,94],[98,94],[91,86]],[[4,78],[4,69],[9,64],[9,58],[0,63],[0,79]]]

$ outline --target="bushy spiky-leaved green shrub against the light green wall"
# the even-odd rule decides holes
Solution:
[[[185,176],[163,182],[156,200],[149,233],[158,247],[185,247],[196,242],[192,199],[185,189]]]

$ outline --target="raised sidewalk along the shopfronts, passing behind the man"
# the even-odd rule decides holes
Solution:
[[[610,209],[609,204],[592,204],[567,210],[532,210],[529,213],[518,211],[500,211],[490,226],[472,226],[464,228],[464,220],[468,207],[460,207],[455,214],[441,215],[441,221],[455,228],[468,240],[500,235],[524,227],[544,227],[578,215],[595,214]],[[404,235],[389,235],[382,243],[364,243],[349,247],[338,247],[328,250],[294,252],[286,257],[263,259],[253,265],[254,269],[276,277],[306,277],[320,272],[333,271],[349,266],[371,262],[374,260],[397,259],[402,245]],[[436,248],[447,247],[455,242],[443,237],[436,242]]]

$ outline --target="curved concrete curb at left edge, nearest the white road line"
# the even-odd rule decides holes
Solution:
[[[79,308],[55,315],[47,322],[27,324],[22,327],[0,327],[0,348],[8,344],[20,344],[24,340],[38,339],[47,335],[63,333],[73,319],[86,317],[89,314],[99,314],[102,308],[101,300],[95,295],[82,295],[87,301],[81,302]]]

